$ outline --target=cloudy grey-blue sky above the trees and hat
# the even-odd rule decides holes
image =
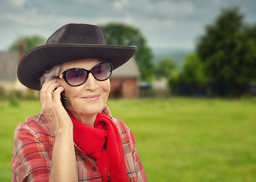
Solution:
[[[47,39],[67,23],[108,22],[138,28],[153,51],[193,50],[221,8],[236,5],[256,23],[256,0],[0,0],[0,50],[23,35]]]

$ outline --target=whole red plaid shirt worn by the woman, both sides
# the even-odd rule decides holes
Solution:
[[[127,175],[130,182],[146,182],[140,158],[136,151],[135,137],[131,130],[118,118],[112,117],[106,105],[101,113],[110,117],[120,132]],[[54,146],[51,125],[43,114],[26,118],[14,132],[14,147],[11,167],[12,182],[48,182],[51,173],[51,156]],[[78,181],[102,182],[94,158],[86,156],[74,143]],[[110,176],[108,175],[108,182]]]

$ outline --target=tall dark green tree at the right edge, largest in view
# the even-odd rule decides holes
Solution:
[[[245,83],[256,79],[255,29],[249,33],[238,7],[223,9],[206,27],[197,44],[197,53],[211,82],[230,85],[230,94],[240,95]]]

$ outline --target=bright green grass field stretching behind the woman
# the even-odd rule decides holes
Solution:
[[[256,98],[108,100],[133,131],[149,182],[256,182]],[[0,182],[11,180],[13,132],[39,101],[0,103]]]

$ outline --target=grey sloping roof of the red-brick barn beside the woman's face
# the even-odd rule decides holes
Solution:
[[[125,62],[122,66],[113,70],[111,77],[139,77],[140,72],[138,70],[137,63],[132,57],[129,61]]]

